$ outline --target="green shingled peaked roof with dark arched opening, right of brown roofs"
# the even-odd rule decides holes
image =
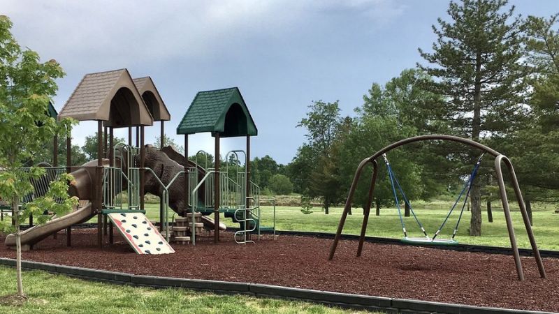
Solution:
[[[220,137],[258,135],[237,87],[199,91],[177,126],[177,134],[219,133]]]

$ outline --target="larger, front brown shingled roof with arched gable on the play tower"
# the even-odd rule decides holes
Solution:
[[[128,70],[86,74],[58,118],[102,120],[105,126],[151,126],[153,118]]]

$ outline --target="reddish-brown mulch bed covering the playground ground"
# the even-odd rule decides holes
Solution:
[[[173,245],[172,255],[138,255],[117,233],[115,244],[103,250],[96,247],[96,230],[73,230],[71,248],[59,233],[22,257],[131,274],[559,312],[558,259],[544,259],[548,278],[542,279],[535,260],[522,257],[526,280],[520,282],[509,255],[365,243],[362,256],[355,257],[357,241],[342,240],[328,261],[331,239],[263,236],[256,244],[238,245],[231,232],[222,232],[219,244],[197,237],[196,246]],[[0,257],[15,258],[13,250],[0,246]]]

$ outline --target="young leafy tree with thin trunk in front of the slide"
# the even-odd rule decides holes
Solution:
[[[45,220],[45,208],[60,215],[78,202],[68,199],[66,180],[71,176],[65,174],[52,181],[45,197],[38,197],[20,209],[22,197],[34,189],[31,181],[45,174],[41,167],[22,169],[24,163],[55,134],[68,134],[72,121],[64,119],[57,124],[46,114],[50,98],[57,91],[55,79],[64,75],[59,63],[41,63],[36,52],[22,50],[10,32],[11,27],[9,18],[0,16],[0,197],[10,202],[14,213],[17,296],[24,297],[20,223],[31,214]],[[61,197],[60,203],[55,202],[57,197]]]

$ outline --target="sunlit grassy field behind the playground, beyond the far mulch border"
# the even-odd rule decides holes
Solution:
[[[414,202],[414,211],[419,220],[425,226],[429,234],[435,233],[444,217],[447,215],[451,201],[433,201],[433,202]],[[507,233],[507,225],[504,220],[502,208],[496,206],[497,202],[493,202],[493,223],[488,223],[486,212],[483,213],[481,224],[481,237],[470,237],[468,228],[470,227],[470,212],[465,211],[460,226],[458,227],[458,235],[456,239],[464,244],[482,244],[489,246],[510,246]],[[159,217],[159,204],[146,204],[147,215],[156,220]],[[316,232],[335,232],[337,224],[342,214],[341,208],[331,208],[330,214],[325,215],[321,208],[312,209],[312,214],[303,214],[300,207],[276,207],[276,228],[277,230],[294,230],[294,231],[316,231]],[[548,250],[559,250],[559,214],[553,214],[554,206],[550,204],[533,204],[533,229],[539,248]],[[361,222],[363,220],[363,211],[361,209],[352,209],[353,215],[348,216],[344,233],[359,234],[361,232]],[[511,204],[512,220],[518,246],[521,248],[530,248],[530,242],[526,236],[522,216],[515,203]],[[173,214],[173,211],[169,211]],[[451,218],[445,225],[440,238],[448,238],[451,236],[453,228],[458,219],[459,209],[455,209]],[[263,226],[273,225],[273,207],[262,207]],[[238,226],[233,224],[230,218],[222,218],[222,221],[229,226]],[[409,236],[421,237],[422,233],[412,217],[405,217],[404,223]],[[374,209],[369,218],[367,235],[375,237],[389,237],[399,239],[402,237],[402,225],[398,218],[398,211],[395,208],[381,209],[381,215],[375,216]]]

